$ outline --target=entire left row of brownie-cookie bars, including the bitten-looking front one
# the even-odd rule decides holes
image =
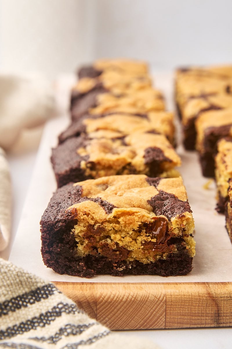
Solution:
[[[41,219],[45,264],[84,277],[190,272],[194,222],[173,113],[147,65],[83,67],[70,114],[51,156],[58,189]]]

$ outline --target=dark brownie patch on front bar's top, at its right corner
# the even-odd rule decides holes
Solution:
[[[163,215],[170,221],[171,217],[184,212],[192,212],[189,202],[179,200],[174,194],[167,193],[163,190],[153,196],[147,202],[152,206],[155,215]]]

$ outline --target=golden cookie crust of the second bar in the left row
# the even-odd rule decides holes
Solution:
[[[88,140],[77,153],[87,157],[80,167],[92,178],[129,174],[132,169],[137,174],[168,177],[169,171],[172,175],[174,167],[181,165],[180,157],[165,136],[146,132],[131,132],[123,137],[119,132],[95,131],[88,134]]]

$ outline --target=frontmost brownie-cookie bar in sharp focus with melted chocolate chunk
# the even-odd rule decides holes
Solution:
[[[42,257],[59,274],[185,275],[194,221],[181,177],[110,176],[59,188],[41,218]]]

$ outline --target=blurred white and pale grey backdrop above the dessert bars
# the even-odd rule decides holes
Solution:
[[[155,69],[232,57],[230,0],[0,0],[0,68],[49,76],[100,57]]]

